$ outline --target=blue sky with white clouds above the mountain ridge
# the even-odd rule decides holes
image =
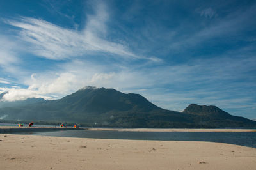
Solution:
[[[84,86],[256,118],[256,1],[0,1],[2,100]]]

